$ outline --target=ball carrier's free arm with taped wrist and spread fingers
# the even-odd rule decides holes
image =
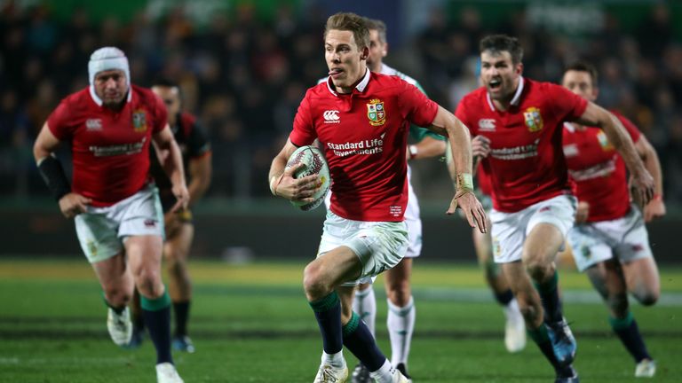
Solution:
[[[486,213],[473,194],[472,138],[469,135],[469,129],[455,117],[455,114],[449,113],[442,106],[438,106],[438,112],[429,129],[448,137],[456,172],[456,193],[450,202],[447,214],[455,214],[459,206],[464,210],[464,215],[472,227],[478,227],[480,232],[488,231]]]

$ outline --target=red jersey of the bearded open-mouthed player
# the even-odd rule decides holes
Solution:
[[[457,118],[472,137],[490,139],[491,152],[481,165],[490,175],[496,210],[514,213],[570,192],[562,126],[586,107],[587,101],[559,85],[525,78],[507,111],[496,110],[484,87],[462,99]]]

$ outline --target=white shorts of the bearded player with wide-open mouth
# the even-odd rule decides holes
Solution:
[[[490,221],[493,224],[491,235],[495,262],[520,261],[523,243],[538,223],[551,223],[566,238],[575,222],[576,205],[577,199],[574,196],[559,195],[515,213],[503,213],[493,208],[490,211]]]

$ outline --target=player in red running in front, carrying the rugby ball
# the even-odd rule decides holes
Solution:
[[[294,128],[270,168],[270,190],[284,199],[312,202],[317,176],[296,179],[300,165],[286,168],[297,147],[319,139],[333,183],[331,207],[317,258],[304,271],[305,296],[322,338],[315,382],[344,382],[348,348],[379,383],[406,382],[352,310],[353,289],[400,262],[408,245],[403,215],[408,203],[409,124],[448,136],[455,157],[457,191],[448,214],[461,207],[472,226],[486,230],[485,213],[473,195],[471,138],[452,113],[397,76],[367,67],[369,29],[353,13],[337,13],[324,32],[329,79],[308,90]],[[337,119],[325,119],[333,114]],[[346,150],[353,146],[356,149]]]

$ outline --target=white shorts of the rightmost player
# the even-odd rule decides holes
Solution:
[[[580,271],[614,257],[621,263],[628,263],[654,256],[644,219],[634,205],[622,218],[575,225],[568,232],[568,243]]]

